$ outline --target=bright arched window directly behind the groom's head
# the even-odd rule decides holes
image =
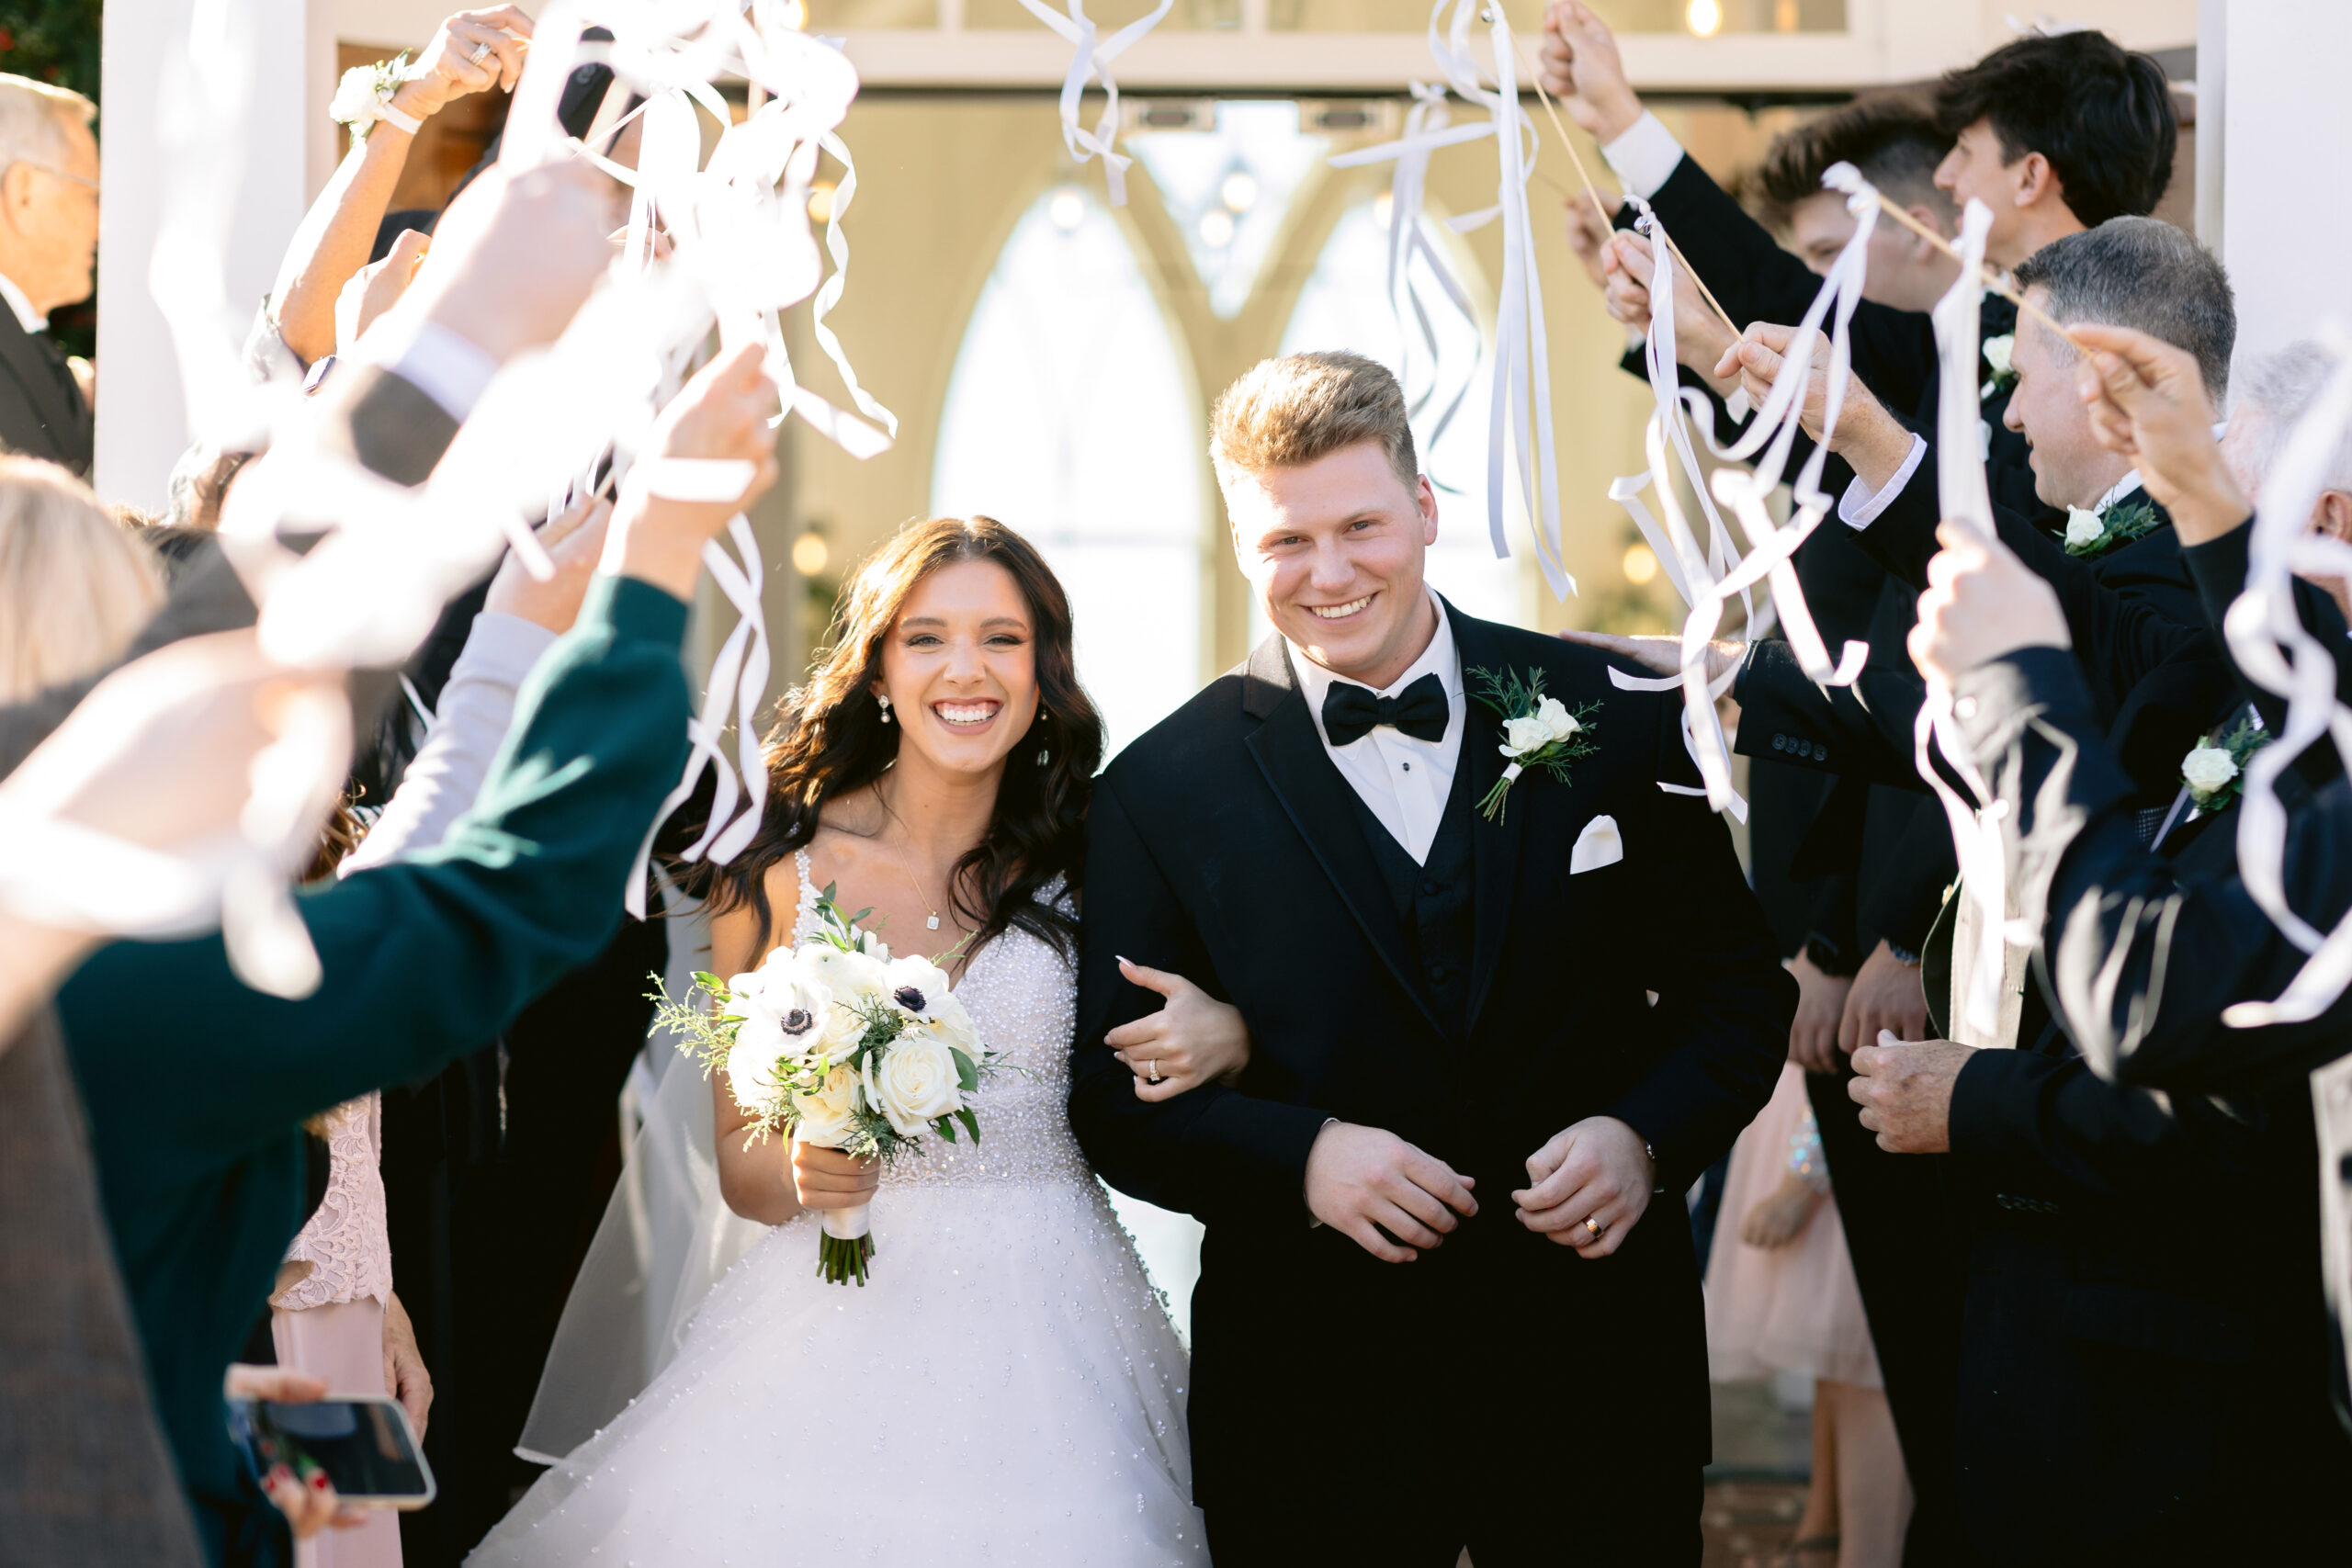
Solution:
[[[1451,235],[1439,233],[1439,240],[1449,242],[1446,263],[1468,287],[1475,277],[1468,249],[1451,244]],[[1282,329],[1282,353],[1350,348],[1399,371],[1409,400],[1425,400],[1414,414],[1414,444],[1421,451],[1421,470],[1437,484],[1430,585],[1472,616],[1526,625],[1534,611],[1529,578],[1517,559],[1496,559],[1486,534],[1491,362],[1479,353],[1484,329],[1446,299],[1421,256],[1411,261],[1411,280],[1437,336],[1435,364],[1418,324],[1411,327],[1406,362],[1397,317],[1388,308],[1388,195],[1350,207],[1324,240],[1305,287],[1298,289],[1289,327]],[[1454,418],[1432,444],[1430,433],[1456,395],[1461,402],[1454,407]],[[1526,541],[1517,541],[1515,548],[1526,548]],[[1251,639],[1261,635],[1263,625],[1256,625]]]

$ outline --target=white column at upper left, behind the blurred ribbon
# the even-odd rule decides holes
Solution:
[[[242,310],[268,292],[310,193],[318,134],[310,78],[334,68],[320,40],[322,0],[151,0],[106,7],[99,139],[106,188],[99,202],[99,451],[92,480],[108,501],[162,510],[165,480],[188,442],[179,364],[148,294],[148,261],[162,221],[160,96],[165,61],[186,47],[191,12],[230,9],[254,56],[252,106],[238,167],[228,299]],[[325,42],[325,49],[318,45]]]

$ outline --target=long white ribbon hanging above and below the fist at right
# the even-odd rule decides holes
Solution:
[[[1952,522],[1980,538],[1994,538],[1992,494],[1985,487],[1985,461],[1978,451],[1978,364],[1980,364],[1980,317],[1985,299],[1985,235],[1992,228],[1992,209],[1978,200],[1959,214],[1959,277],[1936,301],[1936,498],[1945,522]],[[1976,797],[1955,790],[1936,766],[1936,752],[1959,776]],[[2002,849],[2002,816],[2006,802],[1997,799],[1985,776],[1976,766],[1969,738],[1952,712],[1952,689],[1936,675],[1926,675],[1926,698],[1919,703],[1919,719],[1912,726],[1912,759],[1919,778],[1943,802],[1945,820],[1952,827],[1952,851],[1959,860],[1962,898],[1976,903],[1976,929],[1980,933],[1973,961],[1955,954],[1955,964],[1969,961],[1969,990],[1959,999],[1964,1020],[1976,1034],[1994,1034],[2002,1018],[2002,976],[2006,971],[2006,947],[2030,945],[2037,933],[2009,914],[2009,863]],[[1978,802],[1985,802],[1978,811]]]

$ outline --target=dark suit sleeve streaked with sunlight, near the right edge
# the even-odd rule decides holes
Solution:
[[[2303,952],[2239,877],[2187,879],[2140,846],[2131,778],[2098,738],[2063,649],[2023,649],[1971,670],[1959,693],[1976,755],[2011,806],[2002,839],[2018,907],[2042,931],[2044,987],[2098,1072],[2197,1093],[2343,1056],[2345,999],[2312,1023],[2232,1030],[2220,1020],[2234,1001],[2277,997]],[[2352,785],[2343,778],[2288,811],[2286,891],[2321,929],[2352,907]]]

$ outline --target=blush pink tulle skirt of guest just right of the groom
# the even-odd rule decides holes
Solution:
[[[1804,1070],[1790,1063],[1771,1103],[1731,1147],[1724,1208],[1708,1253],[1708,1373],[1717,1382],[1799,1373],[1877,1389],[1884,1387],[1879,1352],[1853,1284],[1837,1197],[1823,1199],[1788,1246],[1740,1241],[1748,1211],[1788,1175],[1790,1138],[1804,1110]]]

